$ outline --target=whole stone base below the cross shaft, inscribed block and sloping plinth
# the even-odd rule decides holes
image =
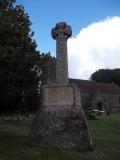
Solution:
[[[92,149],[79,94],[75,85],[43,88],[43,105],[32,124],[31,144]]]

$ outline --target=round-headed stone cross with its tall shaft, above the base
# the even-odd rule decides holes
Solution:
[[[68,84],[68,58],[67,39],[71,37],[72,30],[65,22],[57,23],[51,31],[53,39],[56,40],[56,83]]]

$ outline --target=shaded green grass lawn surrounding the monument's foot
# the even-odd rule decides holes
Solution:
[[[78,152],[28,144],[31,120],[0,120],[0,160],[120,160],[120,114],[89,121],[95,150]]]

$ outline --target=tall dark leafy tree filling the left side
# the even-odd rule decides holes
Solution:
[[[14,3],[15,0],[0,1],[0,106],[3,109],[21,108],[28,91],[38,89],[41,78],[44,82],[51,57],[36,51],[29,16],[23,6]]]

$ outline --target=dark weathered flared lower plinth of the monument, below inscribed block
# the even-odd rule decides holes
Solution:
[[[63,109],[63,108],[62,108]],[[82,111],[66,107],[57,112],[39,112],[33,123],[31,143],[58,148],[91,149],[88,126]]]

